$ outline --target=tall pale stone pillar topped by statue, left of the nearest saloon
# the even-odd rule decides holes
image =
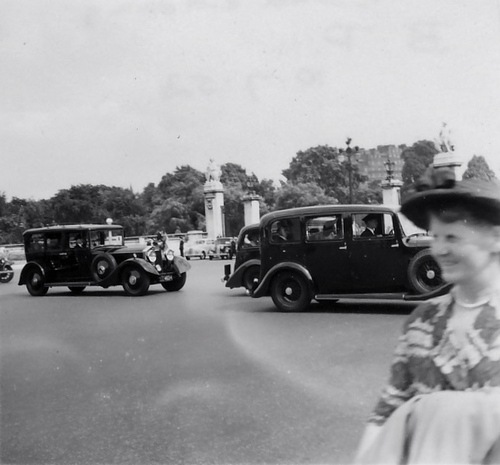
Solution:
[[[220,182],[220,166],[213,158],[207,167],[206,182],[203,188],[205,195],[205,221],[209,239],[225,236],[224,221],[224,188]]]

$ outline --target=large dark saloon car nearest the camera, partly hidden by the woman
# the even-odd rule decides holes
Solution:
[[[444,289],[431,238],[381,205],[302,207],[260,221],[260,278],[253,297],[282,311],[312,299],[419,300]]]

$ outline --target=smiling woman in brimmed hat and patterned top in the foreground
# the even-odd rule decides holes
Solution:
[[[500,185],[429,171],[402,212],[449,294],[404,325],[356,463],[500,463]]]

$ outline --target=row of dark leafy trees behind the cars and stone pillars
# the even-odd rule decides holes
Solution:
[[[402,195],[432,163],[436,148],[420,141],[402,153]],[[354,203],[380,203],[380,181],[361,176],[355,163],[340,157],[327,145],[299,151],[287,169],[286,181],[276,186],[272,180],[259,180],[240,165],[221,166],[224,185],[226,233],[236,235],[243,226],[242,199],[249,191],[261,197],[261,213],[297,206],[348,203],[350,187]],[[464,177],[495,177],[481,156],[474,156]],[[0,194],[0,244],[19,243],[27,228],[51,224],[102,223],[113,218],[125,227],[128,236],[186,232],[205,228],[203,185],[205,174],[189,165],[166,173],[159,183],[148,184],[141,193],[105,185],[77,185],[60,190],[50,199],[14,197],[7,201]],[[351,183],[351,185],[350,185]]]

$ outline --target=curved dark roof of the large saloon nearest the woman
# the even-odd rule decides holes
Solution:
[[[260,219],[261,225],[266,225],[279,218],[293,218],[297,216],[308,216],[317,214],[336,213],[393,213],[396,210],[388,205],[356,204],[356,205],[314,205],[310,207],[288,208],[266,213]]]

